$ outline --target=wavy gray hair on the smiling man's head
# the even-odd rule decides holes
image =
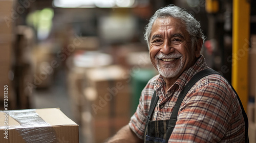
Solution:
[[[183,8],[177,7],[175,5],[168,5],[157,10],[155,14],[150,18],[150,21],[145,27],[144,39],[147,42],[148,49],[150,47],[150,36],[153,23],[157,18],[165,18],[167,16],[181,19],[181,21],[186,25],[187,32],[190,34],[191,37],[193,48],[194,43],[198,42],[198,38],[202,38],[203,42],[205,41],[206,37],[200,28],[200,23],[193,15],[189,14]]]

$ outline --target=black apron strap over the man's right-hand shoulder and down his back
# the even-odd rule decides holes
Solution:
[[[170,135],[172,134],[173,130],[174,130],[174,127],[176,125],[176,122],[177,122],[177,116],[178,116],[178,112],[179,112],[179,108],[180,108],[180,105],[184,99],[184,97],[186,96],[187,92],[190,90],[190,88],[197,82],[199,81],[201,78],[205,77],[205,76],[208,76],[208,75],[212,75],[212,74],[218,74],[220,75],[217,71],[213,70],[213,69],[205,69],[205,70],[201,70],[199,71],[199,73],[197,73],[195,76],[193,76],[191,78],[191,80],[186,84],[186,86],[184,87],[184,89],[181,91],[181,93],[179,94],[179,97],[178,97],[178,100],[175,104],[175,107],[173,109],[173,113],[172,115],[170,116],[170,120],[169,120],[169,124],[167,126],[167,133],[166,133],[166,139],[165,139],[165,142],[167,143],[169,138],[170,138]],[[230,84],[230,83],[229,83]],[[230,86],[232,87],[232,85],[230,84]],[[232,87],[233,89],[233,87]],[[234,89],[233,89],[234,90]],[[234,92],[236,92],[236,90],[234,90]],[[237,92],[236,92],[237,94]],[[237,94],[238,95],[238,94]],[[238,96],[237,96],[238,97]],[[242,109],[242,113],[243,113],[243,117],[244,117],[244,121],[245,121],[245,139],[246,139],[246,142],[249,142],[249,139],[248,139],[248,118],[247,118],[247,115],[244,111],[244,108],[243,108],[243,105],[238,97],[238,100],[239,100],[239,104],[241,106],[241,109]]]

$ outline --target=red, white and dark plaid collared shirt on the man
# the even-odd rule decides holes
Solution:
[[[154,90],[159,101],[152,121],[168,120],[186,83],[200,70],[209,68],[201,57],[184,71],[165,94],[165,82],[155,76],[141,92],[130,128],[143,139],[146,116]],[[178,121],[168,142],[244,142],[245,124],[236,93],[220,75],[199,80],[186,94],[178,113]]]

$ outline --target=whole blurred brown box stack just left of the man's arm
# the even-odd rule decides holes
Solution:
[[[88,69],[82,131],[88,142],[102,142],[130,120],[127,71],[117,65]]]

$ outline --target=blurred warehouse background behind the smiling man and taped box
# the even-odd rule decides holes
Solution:
[[[247,3],[248,26],[240,28],[249,28],[245,96],[256,136],[256,3]],[[112,136],[129,123],[141,90],[157,75],[143,32],[154,12],[169,4],[200,21],[208,66],[231,82],[233,1],[0,0],[0,86],[9,87],[8,109],[58,107],[79,124],[80,142]]]

